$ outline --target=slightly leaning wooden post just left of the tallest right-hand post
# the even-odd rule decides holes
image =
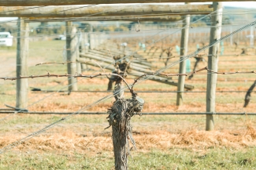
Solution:
[[[185,28],[182,29],[181,41],[180,41],[180,49],[181,49],[180,50],[180,60],[181,60],[181,62],[180,62],[180,69],[179,69],[180,74],[186,73],[186,60],[184,60],[184,56],[187,55],[189,25],[190,25],[190,15],[184,16],[183,27],[185,27]],[[182,60],[184,60],[184,61],[182,61]],[[180,105],[183,104],[184,85],[185,85],[185,76],[179,76],[176,106],[180,106]]]

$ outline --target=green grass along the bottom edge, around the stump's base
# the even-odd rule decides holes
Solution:
[[[248,148],[249,149],[249,148]],[[132,151],[129,169],[255,169],[256,148],[231,150],[213,148],[206,152],[189,149]],[[0,169],[114,169],[113,154],[8,153],[1,157]]]

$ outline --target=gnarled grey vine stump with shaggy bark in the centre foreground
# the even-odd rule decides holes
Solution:
[[[115,169],[128,169],[129,141],[135,147],[132,137],[132,116],[143,110],[144,100],[133,95],[132,99],[119,98],[109,108],[109,127],[112,126],[113,152],[115,156]],[[140,114],[139,114],[140,115]]]

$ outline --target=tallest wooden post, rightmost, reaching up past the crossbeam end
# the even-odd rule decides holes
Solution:
[[[217,11],[211,16],[210,44],[221,38],[222,24],[222,2],[213,2],[213,10]],[[220,43],[213,45],[209,49],[208,68],[217,71],[217,61]],[[215,94],[216,94],[217,74],[207,74],[207,92],[206,92],[206,112],[215,113]],[[214,128],[213,114],[206,115],[206,131]]]

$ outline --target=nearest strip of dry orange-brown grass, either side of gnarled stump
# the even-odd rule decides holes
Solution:
[[[0,139],[0,146],[6,146],[21,137],[24,137],[24,135],[6,134],[5,138]],[[247,124],[246,130],[240,131],[206,132],[192,128],[191,130],[174,133],[166,130],[144,130],[135,131],[134,139],[137,149],[140,151],[169,150],[173,147],[205,150],[222,146],[242,149],[248,146],[256,146],[256,130],[250,123]],[[58,133],[36,136],[20,144],[15,150],[97,153],[111,151],[113,146],[110,132],[81,135],[73,131],[61,130]]]

